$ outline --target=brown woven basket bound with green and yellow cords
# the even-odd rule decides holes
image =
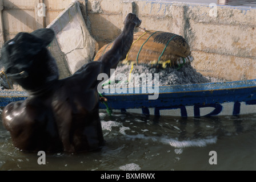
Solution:
[[[109,51],[113,42],[106,44],[97,52],[97,61]],[[189,44],[177,34],[164,31],[142,31],[134,33],[133,44],[122,64],[151,64],[175,67],[193,61]]]

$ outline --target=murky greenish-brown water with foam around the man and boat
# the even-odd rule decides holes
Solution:
[[[0,170],[256,170],[256,118],[181,118],[101,112],[101,151],[46,154],[19,151],[0,123]],[[210,164],[210,151],[217,164]]]

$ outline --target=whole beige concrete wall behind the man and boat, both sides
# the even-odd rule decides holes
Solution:
[[[0,47],[18,32],[50,24],[72,0],[0,0]],[[147,0],[79,0],[87,27],[98,43],[96,51],[122,31],[132,12],[146,30],[183,36],[189,43],[193,67],[206,76],[226,80],[256,78],[256,9]],[[46,16],[38,17],[38,3]],[[137,30],[140,31],[140,30]]]

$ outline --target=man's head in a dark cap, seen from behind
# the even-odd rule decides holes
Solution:
[[[35,90],[46,82],[58,79],[58,68],[47,46],[55,38],[54,31],[41,28],[33,32],[19,32],[1,50],[0,64],[7,77],[24,89]]]

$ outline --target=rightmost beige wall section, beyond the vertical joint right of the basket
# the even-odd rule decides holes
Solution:
[[[256,9],[187,6],[188,40],[196,68],[203,75],[227,80],[254,79],[256,68]]]

